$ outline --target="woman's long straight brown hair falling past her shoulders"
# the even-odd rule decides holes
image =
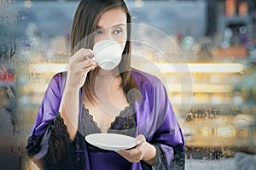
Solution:
[[[80,48],[92,48],[93,35],[100,16],[110,8],[123,8],[127,16],[127,40],[131,38],[131,14],[123,0],[81,0],[76,10],[71,32],[71,54]],[[128,26],[129,25],[129,26]],[[122,78],[120,88],[126,94],[130,89],[137,88],[137,83],[131,77],[131,41],[126,41],[122,59],[119,64],[119,75]],[[84,82],[84,95],[91,102],[96,102],[95,82],[96,70],[90,71]],[[129,96],[130,98],[130,96]],[[132,103],[137,97],[128,99]]]

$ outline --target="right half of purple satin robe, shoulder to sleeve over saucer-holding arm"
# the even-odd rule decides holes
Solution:
[[[182,129],[164,84],[159,78],[141,71],[133,74],[143,99],[135,105],[138,133],[156,148],[153,169],[185,168],[185,148]],[[147,168],[143,168],[147,169]]]

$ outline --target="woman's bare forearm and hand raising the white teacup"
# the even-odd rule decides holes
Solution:
[[[72,140],[79,126],[79,89],[84,85],[87,73],[96,68],[96,61],[91,56],[90,49],[82,48],[69,59],[67,82],[59,111]]]

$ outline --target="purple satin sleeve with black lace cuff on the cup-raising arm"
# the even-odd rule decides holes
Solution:
[[[67,165],[67,160],[74,155],[67,127],[59,114],[66,75],[61,72],[50,80],[27,140],[27,155],[41,169],[56,169],[56,165]]]

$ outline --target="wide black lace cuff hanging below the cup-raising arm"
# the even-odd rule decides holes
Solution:
[[[59,114],[49,122],[44,133],[28,138],[26,151],[40,169],[73,168],[75,149]]]

